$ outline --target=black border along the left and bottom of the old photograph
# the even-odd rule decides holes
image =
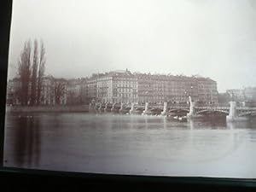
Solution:
[[[213,177],[154,177],[109,175],[80,172],[55,172],[3,166],[6,84],[9,61],[9,34],[12,0],[0,1],[0,183],[5,184],[73,184],[85,189],[126,189],[179,191],[248,191],[256,190],[256,179]],[[119,188],[120,185],[122,188]]]

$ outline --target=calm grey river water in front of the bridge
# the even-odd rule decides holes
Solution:
[[[256,177],[256,121],[30,113],[6,118],[4,166],[137,175]]]

